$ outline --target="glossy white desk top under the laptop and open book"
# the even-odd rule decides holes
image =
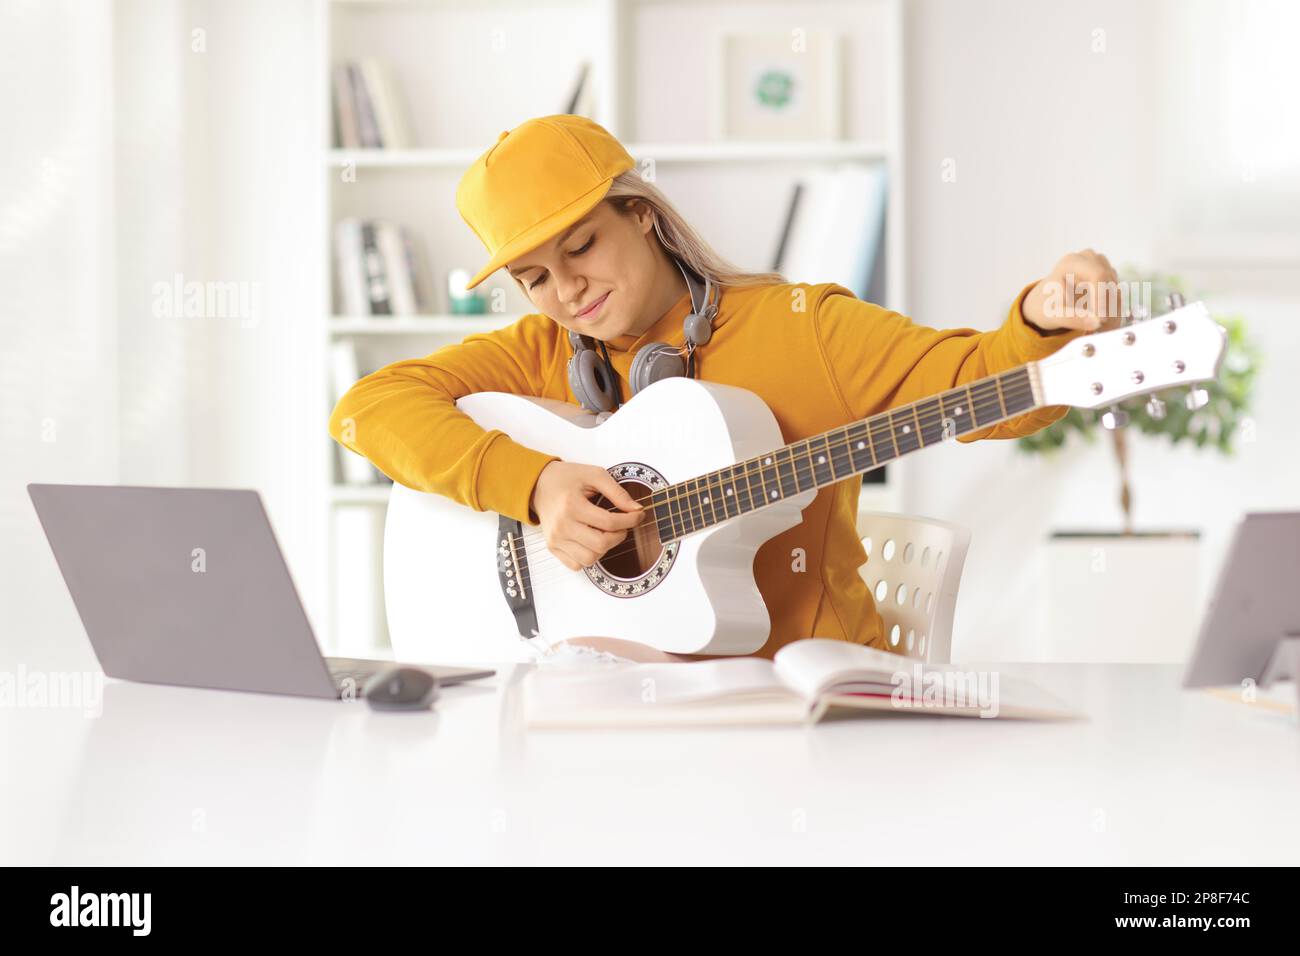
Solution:
[[[1006,670],[1092,719],[525,732],[510,674],[426,714],[107,682],[98,718],[0,708],[0,862],[1300,858],[1295,715],[1173,666]]]

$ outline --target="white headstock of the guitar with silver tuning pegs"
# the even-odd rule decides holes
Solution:
[[[1204,405],[1195,386],[1218,375],[1226,349],[1227,332],[1201,302],[1079,336],[1036,363],[1043,405],[1100,408],[1178,385]]]

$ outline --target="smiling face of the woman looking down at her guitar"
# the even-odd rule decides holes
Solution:
[[[645,203],[619,213],[597,203],[552,239],[507,263],[533,306],[566,329],[610,341],[646,326],[658,274]],[[658,317],[651,316],[653,321]]]

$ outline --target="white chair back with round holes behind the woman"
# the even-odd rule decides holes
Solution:
[[[858,574],[876,598],[890,649],[948,663],[970,531],[933,518],[867,511],[858,518],[858,533],[867,553]]]

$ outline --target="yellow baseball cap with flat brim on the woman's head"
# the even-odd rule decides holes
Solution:
[[[504,130],[460,177],[456,208],[488,248],[467,289],[595,208],[636,161],[584,116],[556,113]]]

